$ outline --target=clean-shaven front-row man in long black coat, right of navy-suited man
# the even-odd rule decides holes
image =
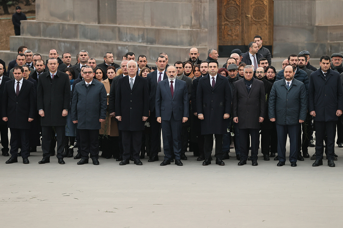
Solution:
[[[231,90],[226,77],[218,74],[218,62],[209,62],[209,74],[199,79],[197,88],[197,111],[201,120],[201,134],[204,135],[205,160],[202,165],[211,164],[213,134],[215,137],[216,164],[222,161],[223,134],[227,133],[227,119],[231,112]]]

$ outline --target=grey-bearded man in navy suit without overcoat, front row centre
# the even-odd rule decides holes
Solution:
[[[183,165],[180,160],[181,130],[182,123],[185,123],[189,117],[189,97],[186,82],[176,79],[176,75],[176,67],[169,66],[168,79],[158,83],[156,89],[156,117],[157,122],[162,126],[165,155],[161,166],[169,165],[173,154],[175,164]]]

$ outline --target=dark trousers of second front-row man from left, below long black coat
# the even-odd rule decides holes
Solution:
[[[53,134],[52,126],[42,126],[42,150],[43,158],[50,159],[50,146]],[[56,135],[57,135],[57,158],[63,158],[62,153],[64,150],[64,138],[66,137],[65,130],[66,126],[54,126]]]

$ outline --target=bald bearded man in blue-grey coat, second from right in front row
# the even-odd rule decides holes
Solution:
[[[284,79],[273,84],[269,95],[269,118],[276,122],[277,155],[283,166],[286,161],[286,140],[289,137],[289,161],[297,166],[297,145],[300,123],[306,119],[307,95],[304,83],[294,78],[295,67],[284,69]]]

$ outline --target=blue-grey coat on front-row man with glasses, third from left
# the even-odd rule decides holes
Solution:
[[[71,120],[78,121],[78,129],[100,129],[99,119],[106,119],[106,109],[106,90],[103,83],[95,79],[88,87],[84,80],[75,85]]]

